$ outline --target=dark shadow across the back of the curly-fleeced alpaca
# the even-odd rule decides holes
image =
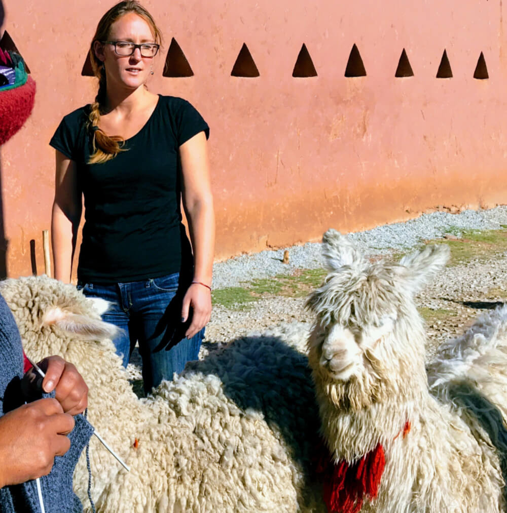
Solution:
[[[315,476],[320,417],[305,354],[277,337],[246,337],[189,362],[185,374],[191,372],[218,376],[226,396],[246,415],[248,410],[261,413],[301,466],[307,491],[311,487],[314,496],[322,496]],[[299,497],[302,509],[307,500]]]

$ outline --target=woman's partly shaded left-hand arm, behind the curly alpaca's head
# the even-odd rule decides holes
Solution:
[[[57,150],[57,173],[51,214],[51,245],[54,277],[65,283],[70,282],[81,211],[81,189],[76,163]]]

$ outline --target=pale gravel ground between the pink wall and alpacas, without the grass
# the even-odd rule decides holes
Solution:
[[[373,230],[351,234],[367,254],[383,254],[392,249],[406,249],[421,241],[438,239],[449,230],[499,229],[507,225],[507,206],[491,210],[467,210],[458,214],[435,212],[421,215],[406,223],[380,226]],[[215,264],[214,287],[237,286],[253,278],[268,278],[295,268],[321,266],[320,244],[305,244],[289,249],[290,265],[281,263],[283,249],[262,251],[253,255]],[[428,324],[428,357],[436,346],[462,333],[485,308],[502,302],[507,291],[507,254],[480,262],[447,267],[437,280],[417,297],[417,304],[429,310],[439,310],[439,319]],[[251,331],[264,331],[281,322],[312,322],[304,309],[304,298],[276,297],[261,299],[237,311],[216,306],[206,328],[203,352],[215,344],[234,340]]]

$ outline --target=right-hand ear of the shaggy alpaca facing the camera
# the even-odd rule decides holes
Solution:
[[[400,260],[400,265],[404,266],[401,274],[407,279],[416,293],[425,285],[431,283],[436,275],[445,267],[449,260],[450,249],[445,244],[435,244],[425,246],[420,251],[410,253]]]

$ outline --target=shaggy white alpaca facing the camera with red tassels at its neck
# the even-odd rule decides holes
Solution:
[[[324,234],[329,274],[308,300],[317,317],[308,348],[335,463],[331,510],[504,510],[507,309],[425,370],[414,294],[448,253],[428,246],[399,264],[370,263],[340,233]]]

